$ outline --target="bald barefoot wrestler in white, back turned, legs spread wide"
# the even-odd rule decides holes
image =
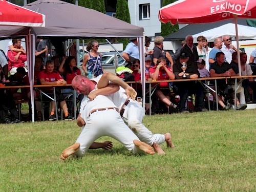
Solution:
[[[84,95],[89,95],[95,86],[93,81],[85,76],[78,75],[72,81],[74,89]],[[110,88],[115,89],[115,84]],[[86,89],[84,89],[86,88]],[[89,89],[88,89],[89,88]],[[134,154],[147,153],[154,155],[153,148],[139,140],[139,138],[125,125],[117,106],[110,96],[98,95],[93,101],[86,99],[81,108],[81,117],[84,120],[84,128],[75,144],[66,148],[60,158],[65,160],[70,155],[81,157],[91,144],[102,136],[112,137],[123,144],[127,150]]]

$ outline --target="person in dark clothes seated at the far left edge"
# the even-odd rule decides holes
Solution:
[[[3,84],[4,72],[0,66],[0,84]],[[0,89],[0,120],[5,123],[20,123],[18,119],[18,110],[13,100],[10,89]],[[10,116],[9,116],[10,112]]]

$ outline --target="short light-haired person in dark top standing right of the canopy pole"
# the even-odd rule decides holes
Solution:
[[[156,36],[155,37],[155,40],[154,40],[154,43],[155,43],[155,47],[153,49],[153,54],[151,56],[151,61],[152,61],[152,66],[156,66],[157,65],[157,60],[160,58],[160,57],[165,57],[164,53],[163,53],[163,37],[162,36]],[[166,61],[165,61],[166,62]]]

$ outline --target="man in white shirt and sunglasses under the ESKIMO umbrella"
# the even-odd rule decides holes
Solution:
[[[231,40],[229,35],[224,35],[222,37],[223,45],[221,51],[225,54],[225,59],[229,64],[232,60],[232,53],[237,51],[237,48],[231,44]]]

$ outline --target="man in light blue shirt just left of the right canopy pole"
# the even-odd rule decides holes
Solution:
[[[129,39],[131,42],[126,46],[123,51],[122,57],[129,62],[133,62],[134,59],[139,59],[139,48],[138,48],[138,40],[136,37],[132,37]]]

